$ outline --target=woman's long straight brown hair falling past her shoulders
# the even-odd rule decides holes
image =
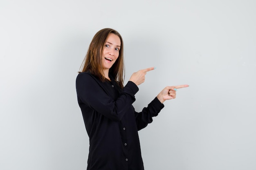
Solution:
[[[81,72],[90,71],[92,75],[98,77],[102,82],[106,81],[106,78],[103,74],[103,65],[102,65],[102,51],[103,46],[108,38],[108,35],[113,33],[120,38],[121,47],[119,50],[119,57],[113,66],[109,69],[109,74],[115,79],[121,88],[124,87],[124,43],[121,35],[114,29],[105,28],[98,31],[92,38],[89,49],[83,63],[80,67]],[[81,69],[82,68],[82,69]]]

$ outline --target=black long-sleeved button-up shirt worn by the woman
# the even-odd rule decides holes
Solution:
[[[164,105],[155,97],[137,113],[132,103],[138,90],[130,81],[121,89],[114,80],[101,82],[89,72],[77,76],[78,103],[90,139],[88,170],[144,170],[138,130]]]

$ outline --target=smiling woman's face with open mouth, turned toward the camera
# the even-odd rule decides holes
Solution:
[[[102,52],[102,65],[104,70],[108,70],[112,67],[119,56],[119,50],[121,48],[120,38],[110,33],[103,46]]]

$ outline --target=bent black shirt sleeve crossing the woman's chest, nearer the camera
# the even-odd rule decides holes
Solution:
[[[80,73],[76,78],[78,100],[109,119],[120,121],[135,101],[135,94],[139,89],[133,82],[128,82],[114,100],[101,83],[89,73]]]

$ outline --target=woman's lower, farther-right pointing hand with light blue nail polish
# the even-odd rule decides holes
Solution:
[[[164,103],[166,100],[175,99],[177,88],[189,87],[189,85],[167,86],[158,95],[157,99]]]

